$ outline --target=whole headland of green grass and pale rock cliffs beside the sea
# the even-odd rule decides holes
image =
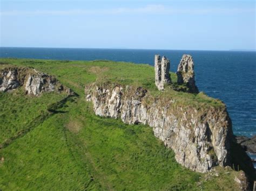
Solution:
[[[160,90],[156,71],[147,65],[3,59],[0,167],[7,186],[2,188],[36,189],[45,161],[42,175],[48,183],[53,176],[54,185],[75,178],[86,190],[252,189],[252,161],[233,136],[225,104],[178,83],[177,73],[167,73],[167,58],[157,60],[163,67]],[[86,97],[67,96],[67,87]],[[35,187],[16,184],[31,173]],[[59,181],[67,175],[68,181]],[[84,180],[91,186],[83,187]],[[96,187],[99,182],[106,185]]]

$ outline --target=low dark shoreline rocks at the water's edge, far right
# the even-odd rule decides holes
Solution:
[[[250,153],[256,153],[256,136],[248,138],[245,136],[236,136],[237,143],[244,148],[245,151]]]

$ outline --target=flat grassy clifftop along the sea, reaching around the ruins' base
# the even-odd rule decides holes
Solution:
[[[152,96],[166,96],[177,100],[181,105],[197,107],[225,107],[217,99],[203,94],[188,94],[182,91],[172,90],[177,82],[177,76],[171,73],[174,83],[167,86],[164,93],[158,91],[154,84],[154,68],[145,64],[134,64],[113,61],[58,61],[58,60],[33,60],[33,59],[0,59],[0,68],[6,65],[29,66],[42,72],[57,77],[57,79],[83,95],[87,84],[97,81],[98,83],[110,82],[126,86],[142,86],[149,90]],[[2,65],[2,66],[1,66]]]

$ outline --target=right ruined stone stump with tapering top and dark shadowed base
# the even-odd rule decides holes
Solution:
[[[194,80],[194,61],[191,55],[184,54],[177,70],[178,84],[186,84],[191,93],[198,93]]]

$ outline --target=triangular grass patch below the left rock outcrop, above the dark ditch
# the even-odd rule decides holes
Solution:
[[[38,116],[44,115],[47,107],[65,95],[43,94],[40,98],[25,96],[21,89],[13,93],[0,93],[0,144],[17,135]]]

